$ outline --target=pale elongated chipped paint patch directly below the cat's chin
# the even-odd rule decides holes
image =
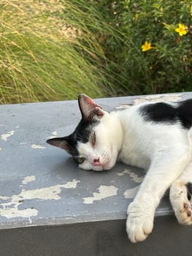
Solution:
[[[94,192],[93,197],[82,198],[83,203],[93,203],[95,200],[102,200],[117,195],[118,188],[115,186],[100,186],[99,192]]]

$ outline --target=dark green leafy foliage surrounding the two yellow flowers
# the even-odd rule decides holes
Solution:
[[[132,42],[122,51],[122,56],[127,54],[123,67],[130,86],[137,83],[144,94],[192,89],[190,6],[189,0],[127,0],[117,6],[120,27]],[[182,37],[175,31],[178,23],[185,24],[188,31]],[[154,48],[141,52],[145,41]],[[134,72],[132,67],[136,67]]]

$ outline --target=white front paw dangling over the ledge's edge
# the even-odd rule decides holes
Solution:
[[[153,230],[154,212],[146,211],[145,206],[131,203],[128,206],[128,217],[126,221],[126,231],[132,243],[143,241]]]

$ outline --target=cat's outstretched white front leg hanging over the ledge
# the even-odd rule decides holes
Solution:
[[[155,208],[190,159],[190,149],[180,145],[161,148],[155,154],[137,196],[128,206],[126,230],[132,242],[143,241],[151,233]]]

